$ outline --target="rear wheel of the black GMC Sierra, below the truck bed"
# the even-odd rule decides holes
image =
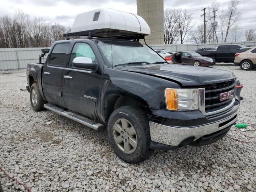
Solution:
[[[43,110],[44,104],[46,104],[46,101],[42,98],[36,83],[33,83],[30,88],[30,104],[32,109],[35,111]]]

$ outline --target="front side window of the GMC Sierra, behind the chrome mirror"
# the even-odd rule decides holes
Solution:
[[[96,56],[92,51],[92,48],[87,43],[76,43],[73,47],[72,53],[70,55],[70,60],[68,63],[69,67],[73,66],[73,60],[76,57],[88,57],[92,59],[92,63],[97,63]]]

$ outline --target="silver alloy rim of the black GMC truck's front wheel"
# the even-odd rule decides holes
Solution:
[[[114,141],[125,154],[132,154],[137,146],[138,139],[134,126],[125,118],[116,120],[113,127]]]

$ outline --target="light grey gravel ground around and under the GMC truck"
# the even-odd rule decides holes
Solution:
[[[232,64],[244,85],[239,122],[256,124],[256,70]],[[26,72],[0,74],[0,166],[32,192],[83,191],[256,191],[256,139],[235,131],[209,146],[156,151],[140,164],[126,164],[97,132],[49,110],[34,112]],[[248,132],[256,136],[252,126]],[[240,141],[237,141],[237,140]],[[248,142],[250,143],[244,143]],[[254,143],[253,143],[254,142]],[[0,170],[5,192],[25,191]]]

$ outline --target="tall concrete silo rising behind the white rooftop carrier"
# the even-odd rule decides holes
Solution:
[[[146,43],[164,44],[164,0],[137,0],[137,14],[148,23],[151,35]]]

